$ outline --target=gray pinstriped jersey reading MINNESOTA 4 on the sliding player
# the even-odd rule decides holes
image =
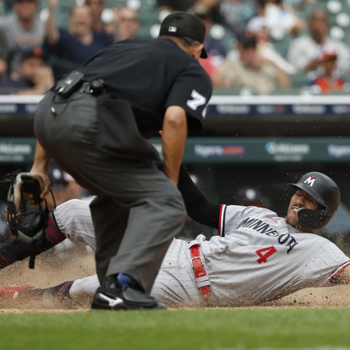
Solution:
[[[220,236],[200,241],[221,305],[260,303],[330,285],[332,273],[350,260],[328,239],[301,232],[265,208],[222,205],[219,222]]]

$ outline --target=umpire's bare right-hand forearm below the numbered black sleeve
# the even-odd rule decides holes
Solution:
[[[187,138],[187,114],[180,106],[169,106],[163,121],[162,148],[164,172],[177,186]]]

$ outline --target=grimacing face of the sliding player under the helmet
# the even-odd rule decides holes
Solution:
[[[298,218],[296,216],[296,212],[300,208],[306,208],[311,210],[318,210],[321,208],[321,204],[316,202],[316,200],[308,195],[305,191],[297,189],[294,196],[291,198],[288,212],[286,216],[286,222],[289,225],[294,226],[297,229],[300,229],[301,231],[310,231],[307,228],[304,228],[301,226],[298,222]]]

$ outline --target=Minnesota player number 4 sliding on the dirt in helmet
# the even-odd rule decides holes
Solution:
[[[179,188],[188,214],[218,227],[218,236],[205,240],[199,235],[191,242],[174,239],[151,294],[169,306],[237,306],[271,301],[306,287],[350,283],[350,258],[313,233],[335,214],[340,199],[337,185],[317,172],[288,185],[295,193],[282,218],[265,208],[208,201],[182,167]],[[80,200],[59,205],[50,214],[46,238],[47,246],[68,238],[94,249],[89,205]],[[11,247],[11,242],[0,247],[2,262],[13,262]],[[79,302],[92,298],[98,287],[97,276],[90,276],[46,289],[4,287],[0,295],[1,291],[18,297],[50,294]]]

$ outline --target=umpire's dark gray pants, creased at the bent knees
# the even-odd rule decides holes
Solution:
[[[38,105],[35,135],[50,158],[97,195],[90,209],[100,283],[121,272],[149,293],[183,226],[182,196],[154,162],[122,159],[96,147],[95,97],[75,92],[69,101],[52,101],[54,95],[48,92]]]

